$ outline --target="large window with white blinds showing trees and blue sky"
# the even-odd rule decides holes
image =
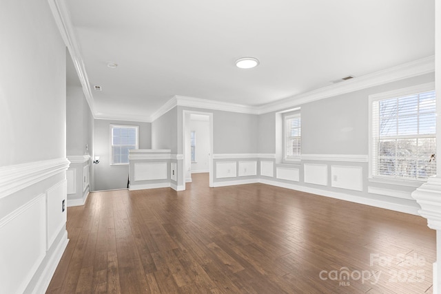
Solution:
[[[369,97],[371,177],[424,180],[436,174],[433,83]]]

